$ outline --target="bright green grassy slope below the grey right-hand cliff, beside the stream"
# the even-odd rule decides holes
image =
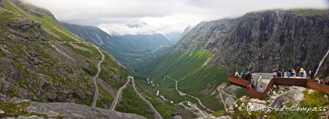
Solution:
[[[209,109],[220,110],[223,109],[223,105],[215,98],[216,95],[209,96],[207,94],[205,96],[200,93],[200,91],[207,89],[209,86],[216,88],[220,83],[226,81],[223,69],[204,65],[210,56],[212,56],[212,52],[200,50],[192,53],[182,51],[170,52],[152,61],[147,67],[147,72],[151,74],[150,78],[153,78],[159,85],[166,75],[178,80],[178,90],[199,98],[203,105]],[[149,76],[149,74],[145,73],[144,76]],[[140,77],[140,80],[145,80],[143,86],[153,94],[160,90],[159,95],[164,96],[168,100],[173,100],[173,102],[179,103],[188,100],[198,103],[196,99],[189,96],[180,96],[175,89],[175,82],[169,78],[166,78],[159,87],[150,87],[147,85],[144,77]],[[207,85],[209,86],[207,87]]]

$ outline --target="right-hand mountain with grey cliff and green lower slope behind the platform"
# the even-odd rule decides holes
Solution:
[[[223,88],[220,84],[227,83],[227,74],[288,67],[316,69],[328,51],[328,33],[329,10],[266,10],[202,22],[171,52],[151,61],[144,76],[151,75],[153,83],[159,85],[149,90],[166,91],[162,96],[167,100],[185,97],[177,95],[175,81],[167,80],[169,76],[177,80],[180,92],[199,98],[207,109],[216,111],[223,109],[222,99],[229,98],[219,93]],[[322,72],[328,72],[328,60],[323,65],[327,66],[322,66]],[[235,92],[237,98],[246,92],[232,85],[223,90]]]

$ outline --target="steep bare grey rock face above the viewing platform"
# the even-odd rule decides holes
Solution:
[[[209,63],[229,72],[315,69],[328,50],[327,39],[329,10],[268,10],[199,23],[173,50],[210,50],[216,54]]]

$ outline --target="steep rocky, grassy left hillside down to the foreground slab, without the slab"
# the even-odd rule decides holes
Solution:
[[[64,28],[48,10],[16,0],[0,4],[0,94],[91,105],[92,78],[102,58],[98,47]],[[102,54],[97,107],[105,108],[128,73],[115,58]]]

